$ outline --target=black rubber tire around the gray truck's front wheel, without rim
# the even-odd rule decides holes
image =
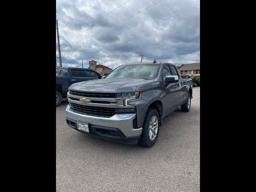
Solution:
[[[157,130],[156,130],[156,135],[154,134],[155,138],[153,140],[150,140],[149,126],[150,126],[150,120],[154,116],[156,116],[156,118],[157,118],[158,126],[157,126]],[[140,136],[140,140],[138,143],[143,147],[152,147],[156,143],[156,140],[157,140],[158,134],[159,134],[159,130],[160,130],[159,114],[155,109],[149,108],[148,111],[146,112],[146,116],[145,116],[143,127],[142,127],[142,134]]]

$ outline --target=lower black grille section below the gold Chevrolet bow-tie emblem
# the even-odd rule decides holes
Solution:
[[[98,115],[107,115],[112,116],[115,114],[115,108],[105,108],[105,107],[93,107],[93,106],[84,106],[75,103],[70,103],[74,110],[85,112],[85,113],[92,113]]]

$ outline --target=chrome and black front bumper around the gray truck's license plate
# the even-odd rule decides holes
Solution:
[[[71,111],[70,106],[67,105],[66,117],[70,127],[78,130],[76,122],[88,123],[90,135],[106,140],[137,144],[142,133],[142,127],[136,129],[133,128],[133,120],[136,118],[136,113],[114,114],[114,116],[110,118],[105,118],[75,113]]]

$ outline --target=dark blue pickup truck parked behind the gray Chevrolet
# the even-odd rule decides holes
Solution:
[[[100,79],[98,72],[85,68],[59,68],[56,69],[56,106],[58,106],[62,98],[68,93],[68,87],[71,84]]]

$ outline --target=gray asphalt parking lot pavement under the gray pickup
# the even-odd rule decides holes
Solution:
[[[164,118],[151,148],[94,138],[66,125],[56,107],[56,191],[200,191],[200,87],[190,112]]]

